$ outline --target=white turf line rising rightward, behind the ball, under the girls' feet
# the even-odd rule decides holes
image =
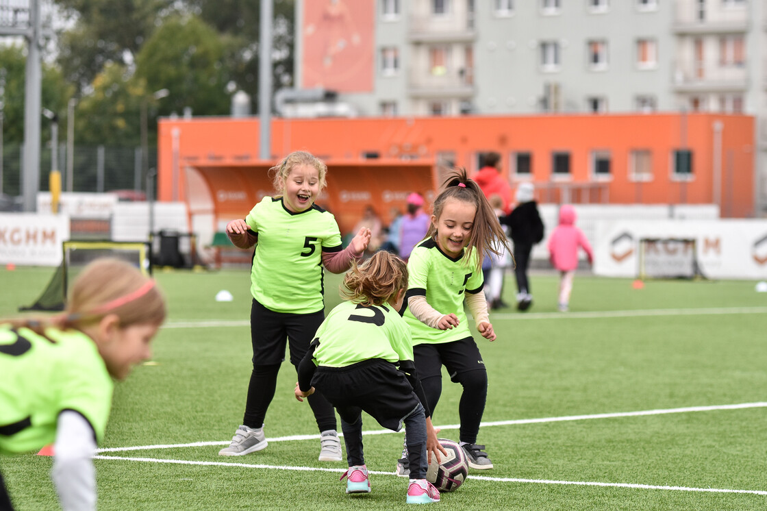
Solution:
[[[740,404],[717,404],[707,407],[686,407],[686,408],[666,408],[660,410],[640,410],[633,412],[616,412],[612,414],[591,414],[591,415],[566,415],[564,417],[542,417],[538,419],[514,419],[514,420],[496,420],[494,422],[482,422],[480,427],[489,426],[515,426],[519,424],[542,424],[546,422],[565,422],[568,420],[588,420],[588,419],[613,419],[616,417],[642,417],[647,415],[665,415],[665,414],[687,414],[691,412],[705,412],[716,410],[744,410],[747,408],[764,408],[767,407],[767,402],[759,403],[740,403]],[[443,426],[435,426],[439,430],[457,430],[459,424],[447,424]],[[384,435],[395,433],[392,430],[370,430],[363,431],[363,435]],[[339,434],[343,437],[343,434]],[[289,437],[275,437],[267,438],[268,442],[286,442],[290,440],[312,440],[319,438],[319,434],[313,435],[291,435]],[[192,442],[192,443],[172,443],[165,445],[144,445],[134,447],[107,447],[104,449],[97,449],[97,453],[120,453],[128,450],[153,450],[153,449],[175,449],[176,447],[206,447],[213,445],[227,445],[229,440],[225,441],[213,441],[213,442]]]

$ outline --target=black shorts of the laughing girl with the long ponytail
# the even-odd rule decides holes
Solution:
[[[441,376],[443,365],[447,369],[447,374],[450,375],[450,381],[453,382],[458,381],[456,378],[461,373],[487,371],[482,354],[479,354],[477,343],[472,337],[436,345],[428,343],[415,345],[413,358],[421,380]]]

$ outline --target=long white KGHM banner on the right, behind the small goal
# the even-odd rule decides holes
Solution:
[[[636,277],[639,240],[695,239],[709,279],[767,279],[767,220],[603,220],[597,225],[594,273]]]

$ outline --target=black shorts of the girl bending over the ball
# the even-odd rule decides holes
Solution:
[[[345,368],[319,366],[311,386],[327,397],[350,424],[357,421],[361,409],[381,426],[399,431],[403,419],[421,404],[405,374],[380,358]]]

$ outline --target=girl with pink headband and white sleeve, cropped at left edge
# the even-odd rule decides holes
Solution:
[[[65,510],[96,508],[91,457],[104,438],[112,378],[151,357],[165,315],[152,279],[97,259],[77,276],[64,314],[0,321],[0,453],[54,443],[51,478]],[[2,476],[0,509],[12,509]]]

